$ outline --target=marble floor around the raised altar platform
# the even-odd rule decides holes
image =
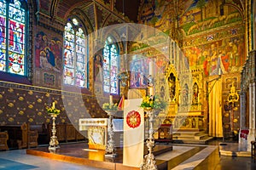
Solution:
[[[250,170],[256,169],[256,162],[249,156],[224,156],[221,150],[236,152],[242,150],[237,143],[222,144],[212,141],[209,144],[172,144],[173,150],[156,156],[157,160],[168,161],[168,169],[223,169],[223,170]],[[67,161],[56,161],[42,156],[27,155],[26,150],[0,151],[0,170],[42,169],[66,170],[102,168],[88,167]]]

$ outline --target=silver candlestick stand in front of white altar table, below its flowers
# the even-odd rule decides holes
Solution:
[[[116,111],[107,111],[109,116],[109,124],[108,124],[108,144],[106,146],[106,154],[105,156],[115,157],[117,154],[115,153],[115,144],[113,140],[113,116],[115,115]]]

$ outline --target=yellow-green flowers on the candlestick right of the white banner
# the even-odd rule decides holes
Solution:
[[[143,103],[140,105],[143,108],[152,108],[152,109],[165,109],[166,102],[161,101],[156,96],[145,96],[143,97]]]

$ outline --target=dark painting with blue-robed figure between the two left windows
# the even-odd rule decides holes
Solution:
[[[58,37],[47,36],[44,31],[38,31],[35,40],[36,67],[61,72],[61,40]]]

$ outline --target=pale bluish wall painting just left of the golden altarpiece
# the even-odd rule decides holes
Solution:
[[[134,59],[130,63],[131,82],[130,88],[146,88],[149,74],[148,58]]]

